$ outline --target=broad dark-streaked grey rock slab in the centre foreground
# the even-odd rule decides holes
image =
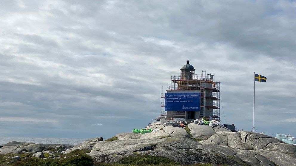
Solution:
[[[110,148],[112,147],[112,148]],[[240,162],[227,156],[232,150],[213,145],[201,145],[187,137],[165,137],[161,139],[135,139],[98,142],[89,153],[95,162],[118,162],[124,157],[136,155],[164,156],[183,164],[213,163],[239,166]],[[207,148],[209,150],[204,151]],[[226,155],[221,155],[219,152]],[[242,162],[242,161],[241,161]]]

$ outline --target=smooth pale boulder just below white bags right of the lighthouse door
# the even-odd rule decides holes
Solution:
[[[193,138],[208,139],[215,134],[215,131],[209,125],[190,123],[188,124],[188,128],[190,129],[190,134]]]

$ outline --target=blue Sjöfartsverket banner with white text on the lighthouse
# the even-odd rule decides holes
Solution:
[[[165,111],[200,111],[200,93],[166,93]]]

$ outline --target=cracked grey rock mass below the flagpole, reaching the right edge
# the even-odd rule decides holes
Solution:
[[[296,165],[295,145],[263,134],[219,131],[200,143],[237,149],[239,151],[235,156],[252,165]]]

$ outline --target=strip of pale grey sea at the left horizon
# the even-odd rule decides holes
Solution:
[[[17,142],[33,142],[44,144],[70,144],[75,145],[81,143],[87,138],[33,138],[33,137],[0,137],[0,145],[6,144],[11,141]]]

